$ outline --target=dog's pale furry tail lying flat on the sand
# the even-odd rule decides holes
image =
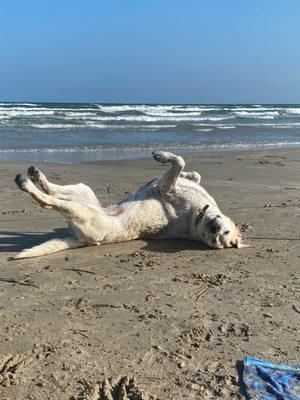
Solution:
[[[39,244],[31,247],[30,249],[24,249],[16,256],[12,257],[12,260],[20,260],[21,258],[32,258],[44,256],[46,254],[56,253],[61,250],[75,249],[76,247],[82,247],[84,243],[73,239],[71,237],[63,239],[52,239],[48,242]]]

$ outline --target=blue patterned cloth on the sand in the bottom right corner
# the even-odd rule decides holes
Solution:
[[[243,380],[248,399],[300,400],[300,366],[244,359]]]

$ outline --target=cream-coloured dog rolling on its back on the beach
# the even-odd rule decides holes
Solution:
[[[123,242],[138,238],[190,239],[212,248],[248,247],[235,223],[200,186],[197,172],[183,172],[185,162],[172,153],[155,151],[153,158],[171,168],[141,186],[128,199],[103,207],[92,189],[82,183],[56,185],[30,167],[28,176],[15,178],[42,207],[52,208],[69,221],[70,237],[52,239],[25,249],[14,259],[30,258],[76,247]],[[39,184],[40,191],[34,183]]]

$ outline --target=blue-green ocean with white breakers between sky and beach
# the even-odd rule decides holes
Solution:
[[[300,145],[300,105],[0,103],[0,161],[77,163]]]

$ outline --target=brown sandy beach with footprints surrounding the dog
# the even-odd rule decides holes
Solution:
[[[186,161],[252,248],[137,240],[9,262],[66,225],[14,186],[28,164],[0,164],[1,400],[239,399],[245,356],[300,361],[299,149]],[[151,158],[39,167],[104,204],[164,170]]]

